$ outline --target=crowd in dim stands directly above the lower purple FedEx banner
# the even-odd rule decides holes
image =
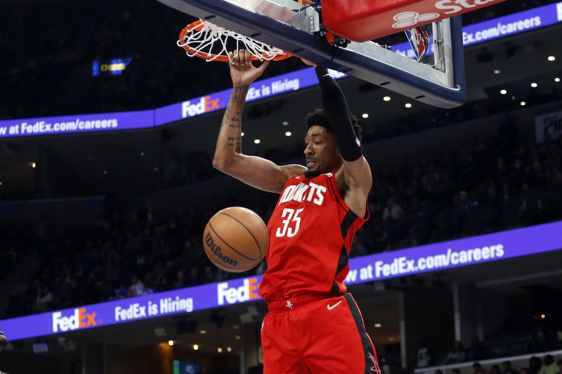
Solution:
[[[562,139],[520,140],[509,117],[501,117],[498,127],[498,135],[486,141],[443,144],[435,158],[420,154],[402,159],[395,170],[373,170],[371,218],[357,232],[350,256],[560,220]],[[110,199],[96,225],[60,236],[43,234],[37,244],[42,266],[33,281],[12,291],[8,314],[226,279],[229,273],[217,271],[203,251],[205,223],[228,206],[251,208],[267,222],[276,201],[276,195],[248,188],[152,217],[144,207],[124,213]],[[8,248],[4,240],[2,248]]]

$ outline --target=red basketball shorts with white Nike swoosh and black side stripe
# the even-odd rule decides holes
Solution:
[[[268,304],[264,374],[381,374],[350,294],[310,294]]]

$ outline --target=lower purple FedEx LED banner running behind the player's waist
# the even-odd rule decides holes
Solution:
[[[562,221],[352,258],[346,285],[562,249]],[[261,275],[2,321],[10,340],[261,300]]]

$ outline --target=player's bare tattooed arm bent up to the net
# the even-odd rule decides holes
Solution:
[[[301,165],[278,166],[261,157],[242,154],[242,111],[250,84],[269,65],[265,61],[259,68],[250,62],[250,53],[241,49],[229,52],[234,63],[230,65],[230,76],[234,88],[216,142],[215,158],[212,165],[218,170],[264,191],[281,193],[287,180],[302,175],[306,168]]]

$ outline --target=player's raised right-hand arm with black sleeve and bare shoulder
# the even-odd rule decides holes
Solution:
[[[351,116],[342,90],[328,73],[328,69],[315,67],[320,81],[322,103],[336,142],[343,166],[336,173],[336,182],[341,191],[346,191],[345,202],[359,217],[364,217],[366,200],[373,184],[371,169],[365,157],[361,142],[351,123]]]

